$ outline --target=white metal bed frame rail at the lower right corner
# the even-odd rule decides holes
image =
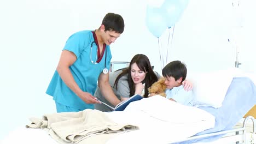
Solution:
[[[248,124],[248,120],[251,119],[252,120],[252,125],[253,125],[253,129],[251,133],[248,133],[246,126]],[[185,142],[188,140],[196,140],[196,139],[201,139],[201,138],[206,138],[206,137],[210,137],[210,136],[216,136],[216,135],[222,135],[222,134],[226,134],[223,137],[221,137],[220,139],[229,139],[230,137],[232,137],[233,139],[235,139],[235,143],[254,143],[255,141],[255,124],[254,124],[254,117],[252,116],[247,116],[245,118],[245,120],[243,121],[243,127],[242,128],[234,128],[231,130],[225,130],[225,131],[218,131],[216,133],[210,133],[210,134],[203,134],[203,135],[197,135],[197,136],[191,136],[188,137],[185,140],[179,140],[179,141],[175,141],[173,143],[176,142]],[[249,134],[249,139],[247,138]],[[207,142],[206,142],[207,143]]]

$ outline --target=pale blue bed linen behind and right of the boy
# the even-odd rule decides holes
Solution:
[[[248,77],[234,77],[226,92],[223,106],[199,107],[215,116],[215,127],[202,131],[196,135],[214,133],[217,131],[230,130],[240,119],[256,104],[256,87]],[[189,140],[178,143],[211,142],[223,135],[210,136],[197,140]]]

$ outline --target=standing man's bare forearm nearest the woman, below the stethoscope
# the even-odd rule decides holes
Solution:
[[[98,77],[98,87],[101,90],[101,94],[106,98],[112,105],[116,106],[121,101],[114,94],[112,87],[109,84],[109,73],[101,73]]]

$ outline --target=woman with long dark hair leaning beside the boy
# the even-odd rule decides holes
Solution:
[[[132,58],[129,67],[113,71],[109,74],[109,84],[112,86],[115,96],[104,97],[101,94],[100,88],[97,87],[94,97],[112,107],[135,94],[147,98],[149,95],[148,88],[158,81],[160,77],[161,75],[153,71],[148,57],[143,54],[137,54]],[[95,104],[95,109],[113,111],[104,104]]]

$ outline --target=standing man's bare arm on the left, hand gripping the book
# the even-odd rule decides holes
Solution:
[[[82,91],[74,80],[74,77],[69,70],[69,67],[77,60],[75,54],[71,51],[63,50],[61,53],[59,64],[57,65],[57,72],[65,84],[81,98],[85,103],[95,104],[100,103],[88,92]]]

